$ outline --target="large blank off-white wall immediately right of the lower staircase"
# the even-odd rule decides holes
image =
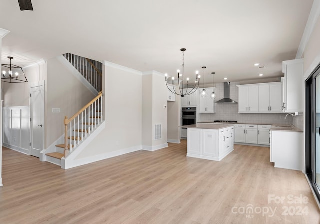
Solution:
[[[99,154],[103,157],[103,154],[113,151],[141,149],[141,72],[109,62],[105,63],[104,69],[106,127],[76,159]]]

